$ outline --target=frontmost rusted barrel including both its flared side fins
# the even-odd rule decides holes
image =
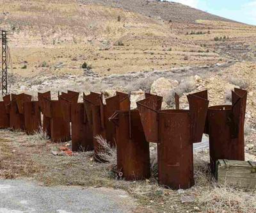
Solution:
[[[147,141],[157,143],[159,184],[188,189],[195,183],[193,143],[202,140],[209,101],[200,93],[188,95],[189,110],[159,110],[157,101],[151,96],[137,106]]]

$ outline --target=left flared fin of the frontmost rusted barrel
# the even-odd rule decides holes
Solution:
[[[137,102],[141,122],[148,142],[158,143],[158,111],[161,110],[163,97],[147,96],[147,99]]]

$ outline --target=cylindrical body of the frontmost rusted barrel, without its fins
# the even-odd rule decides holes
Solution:
[[[158,178],[160,184],[172,189],[188,189],[195,184],[190,123],[189,111],[159,112]]]

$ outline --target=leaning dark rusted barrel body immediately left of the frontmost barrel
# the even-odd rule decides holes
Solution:
[[[116,125],[118,171],[123,173],[125,180],[149,178],[149,143],[138,110],[117,111],[110,120]]]

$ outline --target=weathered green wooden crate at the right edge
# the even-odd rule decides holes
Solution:
[[[256,188],[256,162],[218,160],[216,180],[221,185]]]

